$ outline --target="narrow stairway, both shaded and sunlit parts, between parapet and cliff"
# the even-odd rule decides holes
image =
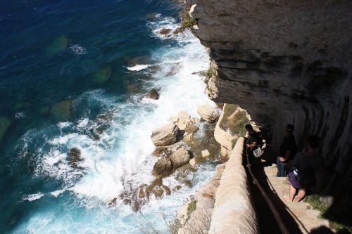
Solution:
[[[313,209],[310,204],[304,201],[286,202],[283,200],[282,196],[289,193],[290,184],[287,177],[276,176],[277,167],[272,155],[276,155],[275,151],[267,148],[262,158],[256,159],[256,162],[251,160],[251,168],[260,186],[263,187],[265,193],[275,204],[277,211],[289,229],[289,233],[320,233],[317,229],[322,227],[327,230],[329,221],[319,219],[319,211]],[[246,165],[246,162],[244,162],[244,165]],[[249,180],[253,181],[248,169],[247,175]],[[256,207],[260,233],[281,233],[268,204],[266,204],[253,182],[251,183],[251,193]]]

